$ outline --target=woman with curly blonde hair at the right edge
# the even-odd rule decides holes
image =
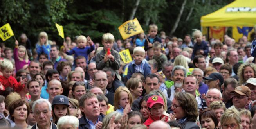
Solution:
[[[255,78],[256,75],[256,65],[255,64],[248,64],[248,63],[244,63],[242,64],[239,68],[238,68],[238,84],[239,85],[243,85],[246,83],[246,81],[249,78]]]

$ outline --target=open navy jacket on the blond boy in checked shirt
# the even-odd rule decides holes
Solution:
[[[147,62],[145,62],[144,66],[143,66],[143,71],[144,71],[144,73],[142,73],[142,74],[144,75],[145,78],[147,75],[149,75],[151,73],[151,67],[150,67],[150,65],[148,65]],[[132,62],[131,62],[128,65],[127,80],[132,77],[133,73],[135,73],[135,64],[132,65]]]

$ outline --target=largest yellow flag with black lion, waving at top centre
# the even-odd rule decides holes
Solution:
[[[144,33],[137,18],[126,21],[125,23],[120,25],[118,29],[123,39],[129,38],[136,34]]]

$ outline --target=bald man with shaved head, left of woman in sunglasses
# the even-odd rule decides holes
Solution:
[[[63,92],[63,88],[61,86],[61,82],[53,79],[49,81],[47,86],[47,92],[49,93],[49,102],[52,104],[52,100],[56,95],[61,95]]]

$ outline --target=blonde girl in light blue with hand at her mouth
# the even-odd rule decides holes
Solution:
[[[120,86],[114,93],[114,111],[127,114],[131,111],[132,94],[128,88]]]

